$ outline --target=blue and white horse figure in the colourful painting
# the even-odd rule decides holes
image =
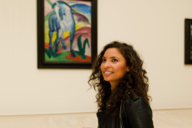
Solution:
[[[75,34],[75,20],[72,13],[72,8],[63,1],[57,1],[54,4],[47,0],[48,3],[52,6],[55,14],[49,17],[49,51],[53,53],[52,46],[52,37],[53,32],[57,32],[56,38],[56,46],[55,52],[53,53],[53,57],[56,57],[58,52],[58,44],[60,40],[62,41],[63,49],[66,49],[63,32],[70,32],[70,52],[73,58],[76,57],[75,52],[73,50],[73,40]]]

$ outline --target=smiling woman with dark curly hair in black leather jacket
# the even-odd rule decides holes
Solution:
[[[88,83],[98,93],[99,128],[153,128],[148,77],[132,46],[107,44],[93,66]]]

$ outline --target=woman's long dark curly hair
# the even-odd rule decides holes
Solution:
[[[104,80],[100,69],[102,57],[108,48],[117,48],[126,59],[126,65],[130,69],[113,91],[111,91],[110,83]],[[94,62],[93,71],[88,80],[89,85],[98,92],[96,95],[98,111],[102,110],[102,106],[106,104],[106,108],[112,112],[112,115],[117,115],[120,103],[130,96],[135,98],[142,96],[148,103],[150,102],[151,97],[147,94],[149,87],[147,72],[142,66],[143,61],[131,45],[114,41],[103,48]]]

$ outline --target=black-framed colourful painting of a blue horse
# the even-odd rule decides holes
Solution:
[[[97,0],[37,0],[37,38],[38,68],[91,68]]]

